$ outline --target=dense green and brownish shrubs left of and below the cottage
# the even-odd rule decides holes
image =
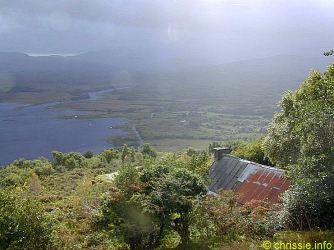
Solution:
[[[207,197],[210,165],[209,151],[156,153],[148,144],[14,161],[0,171],[1,247],[215,249],[263,237],[268,205]]]

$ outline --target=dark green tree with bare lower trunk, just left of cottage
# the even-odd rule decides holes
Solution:
[[[145,169],[140,180],[146,183],[145,207],[159,218],[162,227],[171,226],[187,245],[193,200],[206,192],[202,179],[184,168],[154,166]]]

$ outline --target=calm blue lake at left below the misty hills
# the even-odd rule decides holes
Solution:
[[[90,100],[110,90],[92,92]],[[17,105],[0,103],[0,166],[18,158],[50,157],[51,151],[100,152],[111,145],[109,136],[125,132],[111,127],[126,121],[118,118],[81,119],[87,112],[60,110],[56,103]],[[70,119],[61,119],[66,116]]]

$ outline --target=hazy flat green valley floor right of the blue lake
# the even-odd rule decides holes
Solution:
[[[186,95],[182,96],[181,93]],[[124,117],[128,131],[123,138],[108,138],[113,145],[139,145],[132,126],[135,125],[144,142],[158,150],[205,148],[210,141],[251,140],[263,135],[274,112],[275,99],[240,94],[214,96],[207,93],[200,98],[188,96],[197,89],[175,89],[161,93],[150,85],[138,85],[126,90],[108,93],[103,98],[59,105],[96,113],[91,117]],[[174,93],[179,94],[176,95]],[[256,93],[257,95],[258,93]],[[269,104],[264,105],[263,102]]]

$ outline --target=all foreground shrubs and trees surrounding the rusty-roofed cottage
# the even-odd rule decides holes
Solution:
[[[280,106],[265,137],[248,144],[173,153],[124,145],[14,161],[0,171],[0,248],[247,249],[297,235],[333,240],[334,65],[311,73]],[[286,170],[292,184],[281,204],[206,195],[211,150],[223,144]]]

